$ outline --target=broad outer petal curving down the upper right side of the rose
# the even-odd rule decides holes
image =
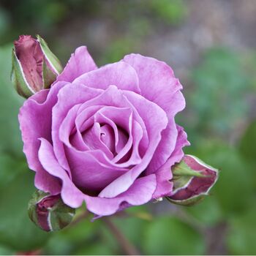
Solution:
[[[165,110],[169,119],[167,128],[162,132],[163,140],[147,168],[148,173],[154,173],[167,161],[176,144],[178,132],[174,116],[185,107],[185,100],[180,92],[182,86],[174,77],[173,70],[163,61],[140,54],[127,55],[124,61],[136,70],[141,95],[157,103]]]

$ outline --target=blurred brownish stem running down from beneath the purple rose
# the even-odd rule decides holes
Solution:
[[[118,241],[118,244],[121,246],[121,248],[127,255],[140,255],[135,246],[133,246],[129,242],[129,240],[124,236],[123,233],[121,233],[121,230],[119,230],[118,227],[116,227],[116,225],[110,220],[109,217],[102,218],[102,220],[108,226],[109,230],[111,231],[111,233],[113,233],[113,236],[116,238],[116,241]]]

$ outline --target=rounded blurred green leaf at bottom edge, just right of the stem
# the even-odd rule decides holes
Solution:
[[[146,255],[203,255],[203,236],[176,217],[158,217],[141,238]]]

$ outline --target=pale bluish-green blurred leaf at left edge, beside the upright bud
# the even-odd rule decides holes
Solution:
[[[1,47],[0,56],[0,149],[22,156],[18,110],[23,99],[18,96],[10,81],[11,47]]]

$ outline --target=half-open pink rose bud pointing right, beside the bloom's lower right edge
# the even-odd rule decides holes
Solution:
[[[217,169],[191,155],[185,155],[172,171],[173,193],[167,200],[183,206],[203,200],[218,178]]]

